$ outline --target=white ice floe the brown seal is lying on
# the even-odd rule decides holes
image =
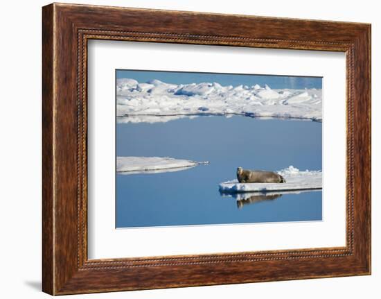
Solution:
[[[294,166],[289,166],[277,171],[285,183],[244,183],[238,180],[229,180],[220,183],[222,192],[263,192],[263,191],[291,191],[304,189],[321,189],[323,186],[323,173],[321,171],[299,171]]]

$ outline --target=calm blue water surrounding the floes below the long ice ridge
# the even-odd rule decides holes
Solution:
[[[116,175],[116,227],[322,219],[321,191],[244,200],[220,182],[236,169],[321,169],[321,123],[250,117],[197,117],[116,125],[116,155],[209,161],[184,171]]]

